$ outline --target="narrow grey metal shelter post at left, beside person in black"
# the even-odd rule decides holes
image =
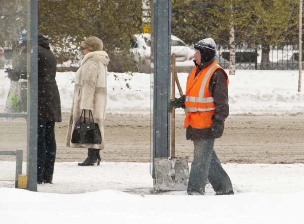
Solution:
[[[28,1],[28,146],[27,175],[30,191],[37,191],[38,0]]]

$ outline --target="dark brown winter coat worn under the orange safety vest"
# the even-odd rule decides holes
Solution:
[[[196,75],[205,67],[210,65],[214,59],[202,63],[200,65],[196,64],[197,72]],[[224,121],[229,115],[229,104],[228,104],[228,86],[227,86],[227,79],[225,74],[221,69],[215,70],[213,73],[210,82],[209,82],[209,91],[212,94],[214,103],[215,103],[215,112],[213,114],[213,119],[222,120]],[[184,105],[184,98],[182,96],[182,108],[185,108]],[[223,128],[224,130],[224,124]],[[210,128],[203,128],[197,129],[191,126],[188,126],[186,129],[186,139],[187,140],[200,140],[200,139],[214,139],[211,134]]]

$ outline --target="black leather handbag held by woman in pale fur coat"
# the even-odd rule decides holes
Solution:
[[[83,121],[82,114],[84,114]],[[91,110],[89,110],[89,122],[86,122],[86,111],[81,112],[79,122],[76,122],[71,142],[73,144],[101,144],[101,133],[99,125],[94,123]]]

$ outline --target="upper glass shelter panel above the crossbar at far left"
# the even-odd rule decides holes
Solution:
[[[27,0],[1,1],[0,113],[24,113],[27,112]]]

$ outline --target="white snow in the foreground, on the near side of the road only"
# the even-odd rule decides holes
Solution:
[[[14,166],[0,162],[6,172]],[[147,163],[102,162],[99,167],[56,163],[54,183],[38,185],[38,193],[14,189],[14,182],[0,182],[0,220],[3,224],[303,222],[303,164],[223,167],[233,182],[233,196],[213,196],[210,184],[206,196],[187,196],[185,191],[151,194]],[[3,172],[0,176],[11,178]]]

